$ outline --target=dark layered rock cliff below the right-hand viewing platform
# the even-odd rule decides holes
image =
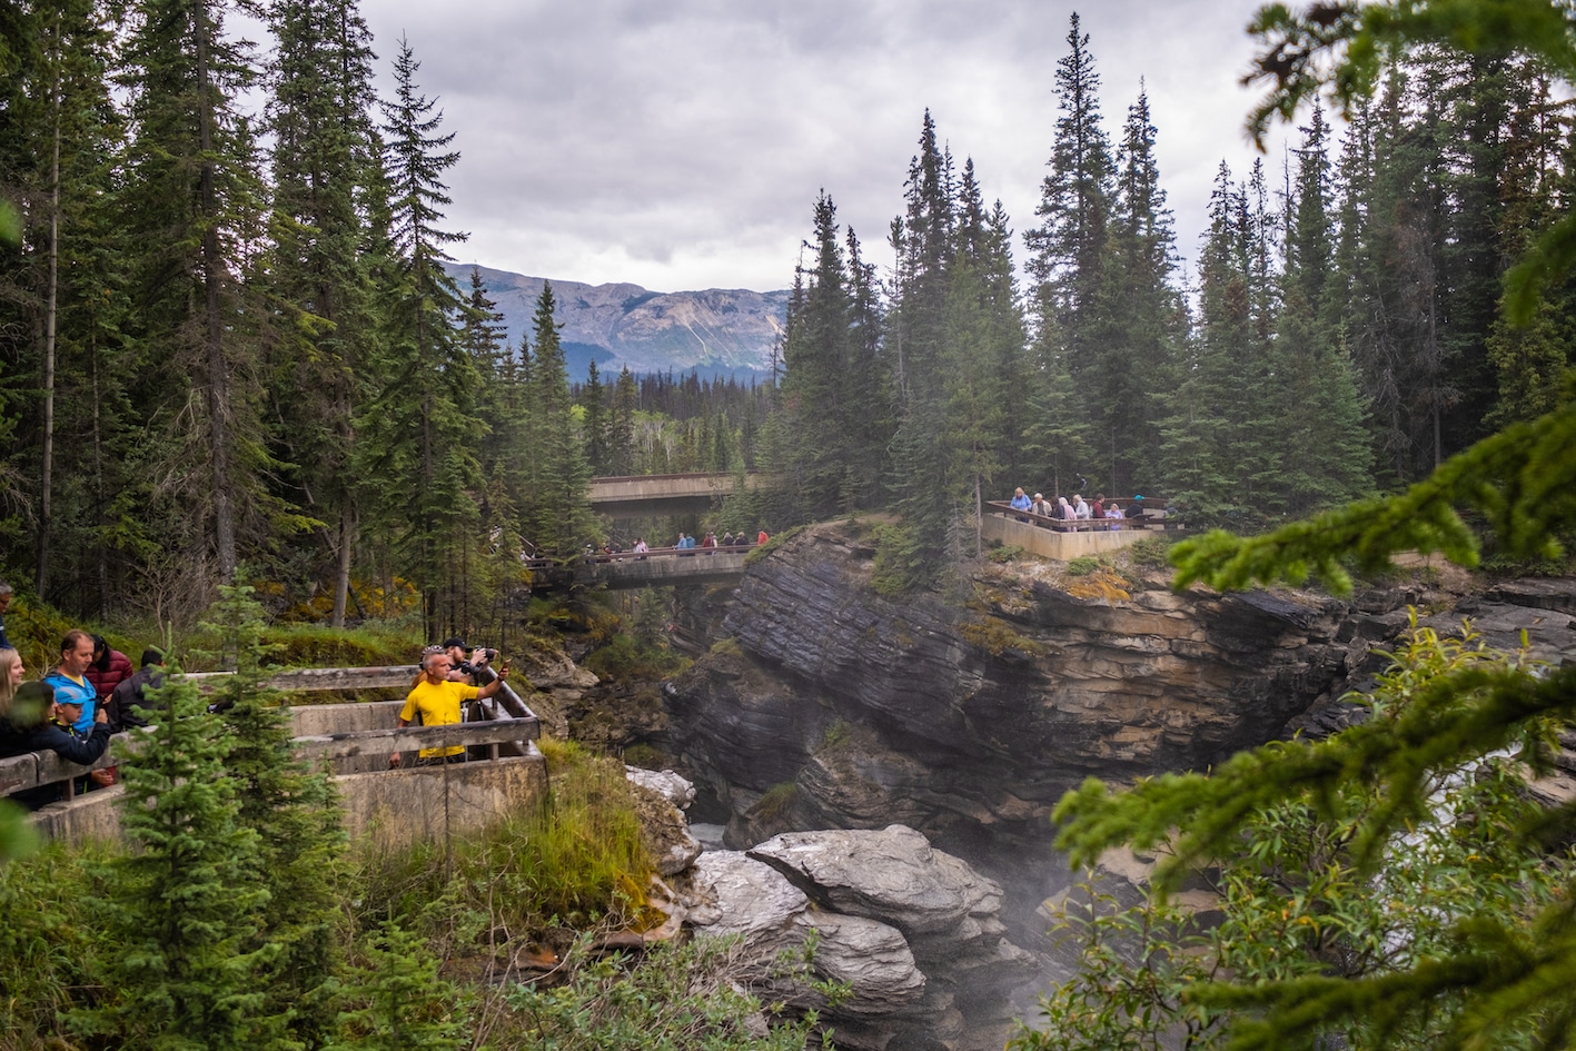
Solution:
[[[1010,868],[1043,856],[1050,807],[1083,778],[1269,741],[1395,630],[1318,596],[1174,594],[1160,574],[1080,599],[987,569],[960,596],[894,600],[873,556],[854,525],[793,537],[745,575],[730,640],[667,685],[670,747],[730,808],[731,846],[900,821]]]

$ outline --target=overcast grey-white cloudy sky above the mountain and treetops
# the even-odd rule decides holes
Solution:
[[[1191,258],[1225,159],[1253,159],[1237,87],[1259,0],[1083,5],[1106,132],[1139,79]],[[783,288],[826,189],[870,262],[925,107],[1015,232],[1034,224],[1070,3],[1043,0],[362,0],[380,90],[400,35],[463,154],[460,262],[656,292]],[[1272,180],[1281,158],[1273,153]],[[1023,260],[1017,240],[1015,258]]]

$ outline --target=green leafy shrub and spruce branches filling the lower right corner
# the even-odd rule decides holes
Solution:
[[[1042,1002],[1046,1029],[1012,1046],[1565,1046],[1573,870],[1538,849],[1544,815],[1513,758],[1535,758],[1551,720],[1522,722],[1530,747],[1429,733],[1538,671],[1470,629],[1414,624],[1359,730],[1139,785],[1128,799],[1146,815],[1121,835],[1162,845],[1154,890],[1133,908],[1095,881],[1069,895],[1059,920],[1083,967]],[[1084,791],[1061,815],[1087,845],[1097,793]],[[1160,827],[1165,811],[1174,824]],[[1201,873],[1217,873],[1218,925],[1168,897]]]

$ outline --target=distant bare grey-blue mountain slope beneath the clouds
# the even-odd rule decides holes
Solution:
[[[446,263],[470,288],[471,263]],[[498,304],[509,328],[509,344],[531,332],[531,315],[542,295],[542,277],[478,266],[487,298]],[[640,285],[583,285],[553,280],[559,339],[569,359],[569,378],[583,380],[596,359],[604,375],[624,366],[630,372],[701,375],[764,373],[771,348],[782,332],[788,292],[706,288],[704,292],[648,292]]]

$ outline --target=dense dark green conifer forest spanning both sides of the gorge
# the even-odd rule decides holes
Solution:
[[[1303,110],[1284,159],[1221,164],[1185,266],[1166,132],[1102,96],[1073,16],[1032,216],[916,113],[883,246],[813,202],[769,381],[571,384],[552,288],[511,347],[443,268],[465,143],[419,41],[378,98],[355,0],[274,0],[260,47],[232,16],[0,17],[0,572],[69,613],[180,619],[244,566],[334,624],[454,624],[522,550],[602,539],[602,473],[769,471],[719,528],[895,511],[892,586],[1017,484],[1251,531],[1426,476],[1568,364],[1568,282],[1529,326],[1497,312],[1573,176],[1559,80],[1510,50],[1415,49],[1346,118]]]

